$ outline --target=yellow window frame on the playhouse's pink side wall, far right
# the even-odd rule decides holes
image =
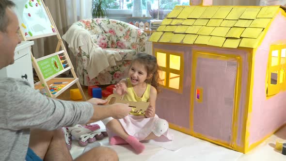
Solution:
[[[267,72],[267,96],[273,96],[278,94],[282,90],[286,90],[286,63],[281,64],[281,51],[286,48],[286,44],[283,45],[271,45],[268,58],[268,72]],[[272,51],[278,50],[277,64],[272,66]],[[281,70],[284,69],[283,82],[280,82]],[[271,84],[271,73],[277,71],[277,82]]]

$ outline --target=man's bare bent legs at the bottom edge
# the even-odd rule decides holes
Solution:
[[[29,147],[44,161],[72,161],[62,129],[32,129]],[[79,156],[76,161],[118,161],[118,156],[108,147],[95,147]]]

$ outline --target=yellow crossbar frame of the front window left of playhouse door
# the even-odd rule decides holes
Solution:
[[[184,53],[183,52],[178,52],[178,51],[173,51],[173,50],[165,50],[165,49],[155,49],[155,56],[157,57],[157,53],[164,53],[166,54],[166,65],[164,66],[160,66],[159,68],[161,71],[165,72],[165,85],[160,84],[160,86],[162,88],[166,88],[166,89],[170,89],[176,93],[183,93],[183,75],[184,75]],[[172,69],[170,68],[170,55],[175,55],[175,56],[179,56],[180,57],[180,69]],[[170,73],[174,73],[176,75],[179,75],[179,89],[175,89],[175,88],[171,88],[169,87],[170,84]]]

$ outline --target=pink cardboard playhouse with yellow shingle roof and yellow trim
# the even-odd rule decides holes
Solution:
[[[246,153],[286,123],[282,6],[176,6],[149,41],[156,113],[170,128]]]

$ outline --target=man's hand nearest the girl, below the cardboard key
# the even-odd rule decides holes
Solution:
[[[129,112],[132,110],[131,107],[128,106],[128,104],[124,104],[124,103],[114,103],[111,106],[111,117],[115,118],[115,119],[120,119],[123,118],[125,116],[127,116],[129,114]]]

